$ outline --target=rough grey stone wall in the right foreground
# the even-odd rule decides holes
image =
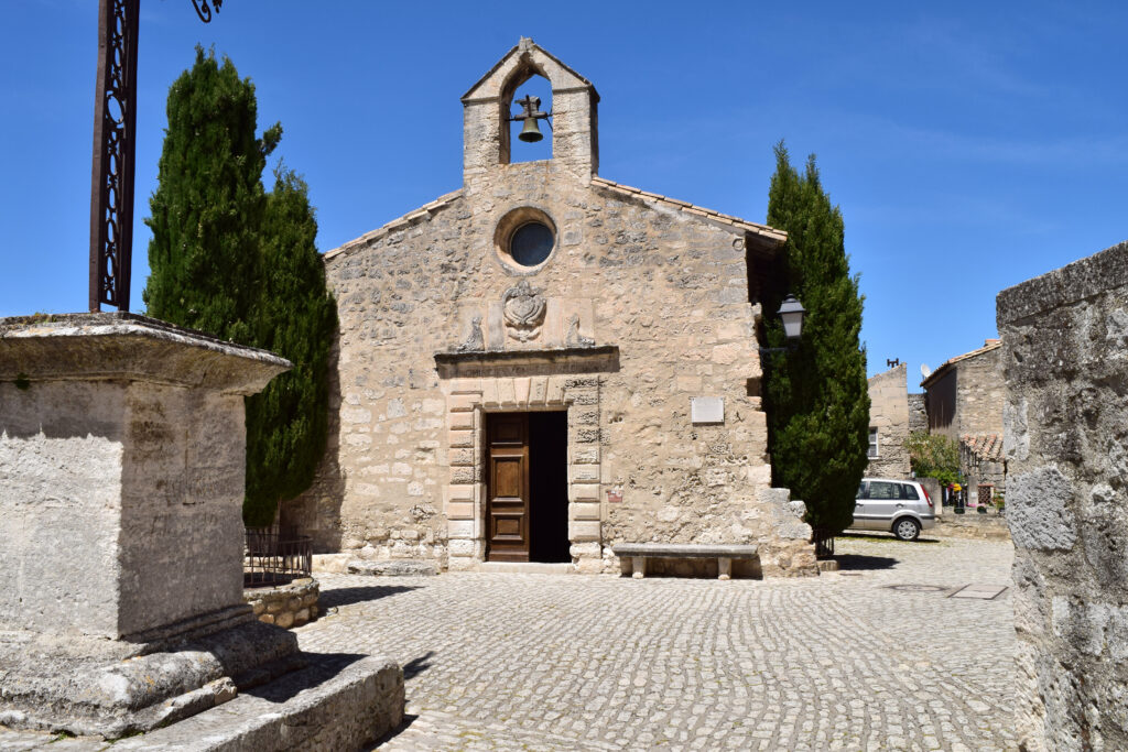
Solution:
[[[1128,244],[1004,290],[1026,749],[1128,749]]]

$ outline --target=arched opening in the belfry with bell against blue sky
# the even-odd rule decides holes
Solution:
[[[502,165],[553,158],[553,86],[535,69],[520,69],[503,89],[499,160]]]

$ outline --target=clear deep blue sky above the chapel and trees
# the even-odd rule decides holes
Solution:
[[[85,310],[97,0],[9,6],[0,316]],[[272,165],[306,176],[328,250],[459,187],[459,97],[525,35],[599,90],[603,177],[763,222],[772,145],[816,152],[870,373],[899,357],[915,389],[995,336],[999,290],[1128,238],[1126,8],[226,0],[205,26],[143,0],[132,310],[195,44],[282,122]]]

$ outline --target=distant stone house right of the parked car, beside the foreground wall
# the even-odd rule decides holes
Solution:
[[[920,386],[925,390],[928,431],[960,445],[960,472],[971,505],[990,504],[1006,486],[1003,445],[1002,342],[958,355],[933,371]]]

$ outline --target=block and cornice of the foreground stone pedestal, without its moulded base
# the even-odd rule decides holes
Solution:
[[[127,313],[0,319],[0,629],[240,603],[243,398],[288,366]]]

